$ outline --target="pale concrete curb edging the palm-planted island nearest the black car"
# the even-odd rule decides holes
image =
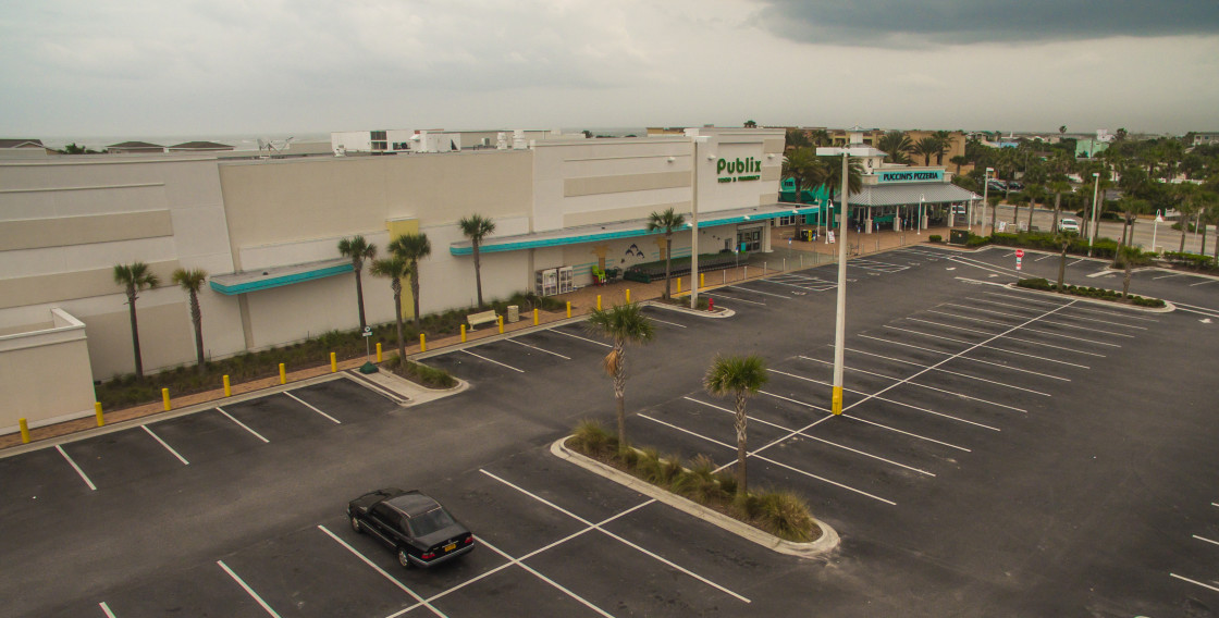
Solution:
[[[592,472],[594,474],[600,474],[614,483],[618,483],[619,485],[624,485],[631,490],[639,491],[640,494],[653,497],[658,502],[664,502],[666,505],[697,517],[703,522],[718,525],[724,530],[728,530],[748,541],[753,541],[768,550],[801,558],[819,558],[836,549],[841,542],[837,533],[834,531],[833,528],[816,518],[813,519],[813,523],[822,529],[822,536],[813,542],[792,542],[772,536],[770,534],[758,530],[745,522],[733,519],[731,517],[728,517],[718,511],[713,511],[694,501],[670,494],[657,488],[656,485],[652,485],[651,483],[642,481],[630,474],[627,474],[625,472],[572,451],[566,445],[568,438],[570,436],[560,438],[551,444],[550,452],[561,460],[574,463],[589,472]]]

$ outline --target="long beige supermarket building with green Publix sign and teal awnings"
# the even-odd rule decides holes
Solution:
[[[118,263],[162,284],[137,305],[146,371],[194,362],[176,268],[210,273],[200,294],[207,357],[358,327],[351,263],[338,241],[378,247],[425,233],[421,311],[473,306],[469,241],[457,221],[492,219],[484,296],[533,290],[538,271],[663,257],[650,213],[697,208],[698,251],[768,251],[772,221],[817,206],[779,204],[781,129],[502,140],[511,147],[394,156],[240,158],[223,154],[0,154],[0,430],[93,413],[95,380],[134,368]],[[674,256],[690,254],[674,236]],[[369,323],[394,319],[386,280],[364,273]],[[411,316],[406,291],[402,308]]]

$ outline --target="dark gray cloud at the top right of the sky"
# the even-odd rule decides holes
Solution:
[[[1219,33],[1215,0],[758,0],[755,23],[814,44],[909,48]]]

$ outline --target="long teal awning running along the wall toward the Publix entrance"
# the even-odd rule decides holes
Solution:
[[[768,204],[766,206],[752,206],[747,208],[700,212],[698,227],[707,228],[714,226],[730,226],[733,223],[773,219],[790,215],[811,215],[817,211],[818,206],[814,204]],[[683,215],[686,217],[686,224],[681,229],[690,229],[690,213],[685,212]],[[530,234],[517,234],[512,236],[485,238],[479,245],[478,251],[480,254],[519,251],[522,249],[578,245],[581,243],[597,243],[602,240],[656,234],[661,234],[661,232],[647,232],[647,219],[618,221],[613,223],[597,223],[592,226],[579,226],[550,232],[534,232]],[[462,240],[449,245],[449,252],[452,255],[473,255],[474,249],[471,246],[469,240]]]

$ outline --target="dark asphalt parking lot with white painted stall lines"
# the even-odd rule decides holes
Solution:
[[[430,355],[472,388],[424,406],[338,379],[0,458],[0,614],[1206,616],[1214,327],[1004,288],[1006,254],[848,262],[840,417],[834,266],[708,293],[731,318],[646,310],[657,339],[628,349],[631,439],[731,464],[731,401],[700,379],[717,352],[763,355],[751,486],[805,496],[842,538],[825,559],[553,458],[577,421],[613,411],[607,343],[566,323]],[[1022,273],[1057,277],[1039,257]],[[1112,277],[1096,272],[1081,261],[1068,279]],[[1163,274],[1132,291],[1219,307]],[[479,547],[400,568],[343,513],[380,486],[439,499]]]

